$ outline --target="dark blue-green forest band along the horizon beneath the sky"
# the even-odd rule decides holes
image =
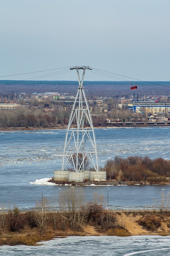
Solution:
[[[170,82],[168,81],[84,81],[84,90],[88,93],[88,98],[93,97],[128,97],[133,94],[130,90],[132,84],[137,83],[135,94],[140,96],[146,95],[169,95]],[[4,96],[19,94],[25,92],[27,94],[58,92],[75,95],[77,92],[78,81],[15,81],[1,80],[0,94]]]

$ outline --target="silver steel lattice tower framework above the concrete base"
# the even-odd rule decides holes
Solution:
[[[69,164],[73,166],[75,172],[85,171],[88,164],[91,164],[93,169],[98,172],[95,133],[83,87],[85,71],[91,70],[91,68],[88,66],[74,66],[71,68],[71,70],[74,69],[77,71],[79,87],[66,131],[62,171],[66,171]],[[79,70],[83,70],[81,81]],[[76,122],[77,128],[71,128],[73,121]]]

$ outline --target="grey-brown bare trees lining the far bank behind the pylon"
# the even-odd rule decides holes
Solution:
[[[33,104],[33,102],[31,103]],[[51,128],[56,125],[68,125],[72,106],[56,105],[53,108],[44,108],[39,106],[20,106],[9,110],[0,110],[0,128],[18,128],[18,127],[42,127]],[[43,105],[44,106],[44,105]],[[91,116],[94,127],[107,126],[107,119],[113,121],[142,121],[143,115],[130,112],[127,109],[119,109],[118,104],[110,103],[110,110],[104,112],[104,109],[97,107],[92,109]],[[76,119],[73,120],[73,125]],[[88,125],[85,119],[84,125]]]

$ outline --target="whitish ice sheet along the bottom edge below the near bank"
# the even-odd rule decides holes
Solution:
[[[2,246],[3,256],[170,256],[170,236],[71,236],[41,242],[38,246]]]

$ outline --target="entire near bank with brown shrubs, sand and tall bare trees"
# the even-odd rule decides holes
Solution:
[[[104,195],[95,193],[93,201],[84,205],[83,196],[72,189],[60,192],[60,211],[48,211],[43,196],[35,211],[20,212],[17,207],[2,211],[0,245],[35,245],[41,240],[71,235],[170,234],[170,212],[161,206],[157,212],[110,211],[103,207]]]

